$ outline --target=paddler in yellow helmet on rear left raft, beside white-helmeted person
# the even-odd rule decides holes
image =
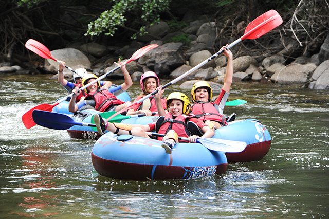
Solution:
[[[119,59],[119,62],[116,63],[116,65],[120,66],[123,76],[124,76],[124,83],[122,83],[119,87],[121,87],[122,90],[127,90],[132,84],[133,81],[129,75],[129,72],[126,70],[125,65],[121,65],[121,61]],[[87,74],[82,79],[82,85],[85,86],[90,82],[93,82],[97,79],[96,75],[94,74]],[[97,81],[96,83],[93,83],[89,85],[84,90],[87,95],[85,96],[85,99],[83,101],[80,101],[79,103],[75,104],[76,96],[81,93],[79,90],[79,87],[75,87],[72,92],[74,95],[70,99],[70,102],[68,104],[68,110],[72,113],[77,112],[78,110],[83,109],[96,109],[100,112],[109,112],[109,111],[120,111],[121,109],[125,108],[126,106],[131,105],[131,102],[123,102],[120,99],[116,98],[114,94],[112,94],[107,87],[104,88],[104,86],[101,87],[100,82]]]

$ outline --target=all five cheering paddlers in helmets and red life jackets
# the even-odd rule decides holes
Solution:
[[[116,65],[120,66],[124,83],[119,86],[112,86],[110,81],[97,81],[87,86],[84,90],[80,88],[97,80],[96,75],[88,73],[84,68],[76,69],[74,73],[74,82],[64,79],[63,70],[65,63],[60,61],[58,81],[69,91],[74,93],[71,97],[68,109],[72,113],[82,111],[83,109],[96,109],[100,112],[122,111],[122,114],[145,114],[151,116],[157,112],[157,121],[147,124],[123,124],[110,123],[102,118],[100,114],[94,115],[94,122],[97,131],[103,134],[106,130],[118,135],[130,134],[149,138],[147,132],[156,131],[160,134],[166,134],[165,137],[158,137],[162,140],[162,147],[166,153],[171,154],[172,148],[178,142],[178,136],[187,137],[189,142],[196,142],[198,138],[211,138],[214,130],[227,125],[228,121],[235,118],[232,114],[228,118],[223,117],[223,109],[229,96],[230,87],[233,78],[233,56],[232,52],[223,46],[223,54],[228,58],[224,85],[220,95],[214,102],[212,99],[212,89],[208,82],[198,81],[191,90],[192,105],[187,95],[181,92],[173,92],[167,98],[162,97],[164,90],[158,76],[153,71],[144,72],[140,78],[142,93],[133,103],[151,94],[155,90],[157,93],[150,98],[143,100],[138,104],[123,102],[116,96],[127,90],[132,84],[132,79],[125,65],[121,64],[120,59]]]

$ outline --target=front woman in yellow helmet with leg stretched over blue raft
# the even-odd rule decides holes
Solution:
[[[160,97],[163,94],[162,86],[159,86],[157,89],[159,91],[155,95],[155,98],[157,103],[160,103]],[[149,136],[145,132],[156,131],[160,134],[166,134],[165,137],[158,137],[158,139],[162,140],[162,148],[165,148],[167,154],[172,153],[172,148],[177,142],[178,136],[188,137],[189,142],[196,142],[197,138],[211,138],[215,134],[207,124],[195,118],[193,115],[190,115],[191,104],[189,98],[185,94],[180,92],[171,93],[167,98],[166,105],[168,113],[165,112],[161,104],[157,104],[159,115],[165,114],[165,116],[160,116],[156,122],[147,125],[112,124],[102,119],[100,114],[94,115],[94,121],[97,131],[100,134],[103,134],[105,130],[118,135],[130,134],[148,138]],[[196,125],[204,134],[202,136],[191,134],[187,129],[187,124],[189,122]]]

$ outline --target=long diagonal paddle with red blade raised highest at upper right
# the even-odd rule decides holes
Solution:
[[[275,11],[275,10],[270,10],[267,11],[266,13],[260,15],[259,17],[257,17],[255,20],[253,20],[245,29],[244,35],[241,36],[241,38],[235,40],[234,42],[232,42],[230,45],[228,45],[227,48],[231,48],[233,47],[235,44],[240,43],[242,40],[245,39],[257,39],[260,36],[264,35],[265,33],[267,33],[268,31],[278,27],[280,24],[282,24],[282,18],[280,16],[280,14]],[[208,58],[207,60],[203,61],[202,63],[194,66],[193,68],[191,68],[190,70],[188,70],[187,72],[185,72],[184,74],[182,74],[181,76],[177,77],[176,79],[172,80],[171,82],[167,83],[166,85],[162,86],[162,89],[176,83],[177,81],[181,80],[182,78],[186,77],[187,75],[191,74],[193,71],[195,71],[196,69],[202,67],[203,65],[205,65],[206,63],[210,62],[211,60],[213,60],[214,58],[216,58],[217,56],[219,56],[224,50],[220,50],[217,53],[213,54],[213,56],[211,56],[210,58]],[[148,94],[147,96],[139,99],[138,101],[132,103],[132,105],[127,106],[123,109],[121,109],[119,112],[117,112],[117,114],[114,114],[112,117],[115,117],[116,115],[126,111],[127,109],[130,109],[131,107],[133,107],[134,105],[137,105],[141,102],[143,102],[145,99],[150,98],[151,96],[155,95],[158,92],[158,90],[155,90],[154,92]],[[112,119],[112,117],[109,117],[108,119]]]

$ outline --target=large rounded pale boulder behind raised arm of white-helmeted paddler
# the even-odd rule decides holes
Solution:
[[[56,57],[58,60],[65,61],[66,65],[72,69],[86,68],[90,69],[91,63],[89,59],[80,50],[75,48],[64,48],[52,50],[51,55]],[[51,60],[45,59],[45,69],[50,72],[57,72],[58,63]],[[64,69],[65,72],[70,72],[68,69]]]

